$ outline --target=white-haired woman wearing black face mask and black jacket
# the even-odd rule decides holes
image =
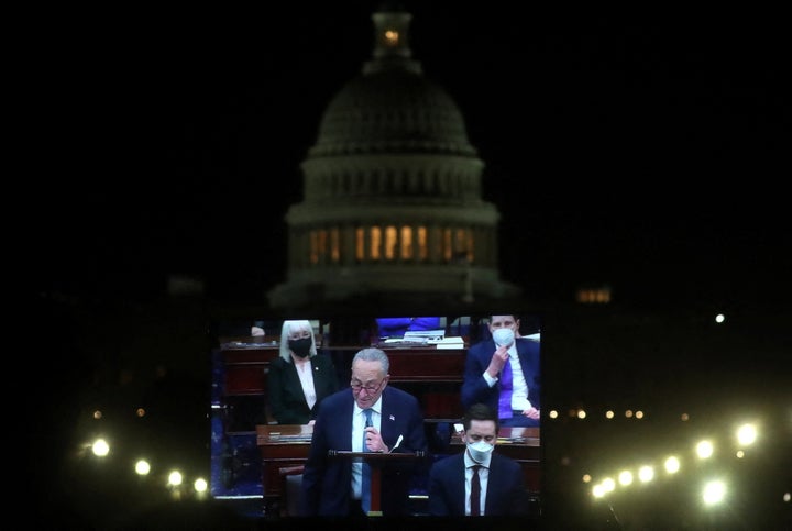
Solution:
[[[267,374],[270,414],[278,424],[312,424],[319,402],[337,390],[332,358],[317,354],[310,321],[284,321],[280,355]]]

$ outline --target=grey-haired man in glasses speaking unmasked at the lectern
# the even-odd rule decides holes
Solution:
[[[302,474],[301,516],[365,516],[371,510],[367,465],[329,456],[352,452],[427,452],[424,413],[418,399],[388,386],[391,364],[380,349],[363,349],[352,359],[350,388],[319,406]],[[382,516],[408,515],[413,476],[422,460],[393,460],[381,468]]]

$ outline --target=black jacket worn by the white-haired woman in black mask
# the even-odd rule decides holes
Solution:
[[[278,424],[307,424],[316,417],[319,402],[339,390],[338,375],[330,356],[311,357],[317,403],[308,407],[294,363],[277,357],[267,373],[267,409]]]

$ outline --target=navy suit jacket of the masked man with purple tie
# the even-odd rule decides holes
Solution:
[[[528,384],[528,399],[531,405],[539,409],[540,402],[540,380],[539,380],[539,342],[525,338],[517,338],[517,356],[522,367],[522,375]],[[498,410],[498,395],[501,394],[501,381],[490,387],[484,379],[484,370],[486,370],[492,359],[492,355],[497,346],[492,339],[481,341],[468,349],[465,358],[465,370],[462,383],[462,407],[468,410],[476,402],[486,403],[494,411]]]

